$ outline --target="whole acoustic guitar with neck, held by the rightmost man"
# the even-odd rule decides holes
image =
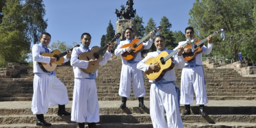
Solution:
[[[221,32],[226,31],[226,30],[227,30],[227,28],[225,28],[225,27],[221,28],[221,29],[217,30],[216,32],[214,32],[213,34],[211,34],[211,36],[213,37],[217,33],[221,33]],[[202,53],[203,51],[202,51],[201,47],[203,46],[203,43],[205,41],[207,41],[207,38],[204,38],[203,40],[199,40],[198,39],[197,42],[195,42],[195,45],[194,45],[194,52],[191,51],[190,53],[183,53],[182,54],[183,57],[184,57],[184,60],[186,62],[191,62],[191,61],[193,61],[195,59],[197,54]],[[192,45],[187,45],[184,48],[192,49],[193,47],[192,47]]]

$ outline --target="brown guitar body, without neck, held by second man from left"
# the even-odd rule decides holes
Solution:
[[[98,69],[99,63],[103,59],[103,57],[101,55],[97,54],[97,52],[99,50],[100,50],[100,47],[94,46],[92,48],[91,52],[84,52],[79,55],[79,57],[78,57],[79,60],[89,61],[90,59],[97,59],[97,62],[93,65],[88,65],[87,69],[81,68],[82,71],[89,74],[89,73],[95,72]]]

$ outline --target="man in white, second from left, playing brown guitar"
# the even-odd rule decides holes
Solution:
[[[70,60],[75,76],[71,121],[77,122],[79,128],[85,128],[85,122],[87,122],[89,128],[96,128],[96,123],[100,121],[99,101],[95,82],[98,69],[93,73],[85,73],[82,69],[87,69],[88,65],[95,64],[97,59],[90,59],[89,61],[79,60],[80,54],[91,52],[89,48],[91,35],[86,32],[83,33],[80,41],[80,47],[73,48]],[[112,56],[112,42],[109,44],[108,50],[99,62],[100,65],[105,65]]]

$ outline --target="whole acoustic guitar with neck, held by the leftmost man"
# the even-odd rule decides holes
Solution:
[[[74,47],[79,47],[79,46],[80,45],[77,44]],[[72,51],[73,48],[69,49],[68,51]],[[64,62],[63,56],[67,55],[68,51],[61,53],[59,50],[56,49],[52,53],[42,53],[41,56],[55,57],[57,60],[55,62],[50,62],[50,63],[38,62],[40,68],[46,73],[54,71],[59,63]]]

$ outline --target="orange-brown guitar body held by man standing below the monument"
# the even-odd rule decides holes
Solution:
[[[136,45],[136,43],[137,43],[138,41],[140,41],[140,39],[133,39],[133,40],[131,41],[131,43],[125,44],[125,45],[123,45],[123,46],[121,47],[121,48],[130,47],[131,49],[133,49],[133,51],[130,52],[130,53],[124,52],[124,53],[122,54],[122,56],[124,57],[124,59],[126,59],[126,60],[128,60],[128,61],[129,61],[129,60],[134,60],[134,59],[136,58],[137,54],[143,50],[143,44],[142,44],[142,43],[140,43],[139,45]]]

